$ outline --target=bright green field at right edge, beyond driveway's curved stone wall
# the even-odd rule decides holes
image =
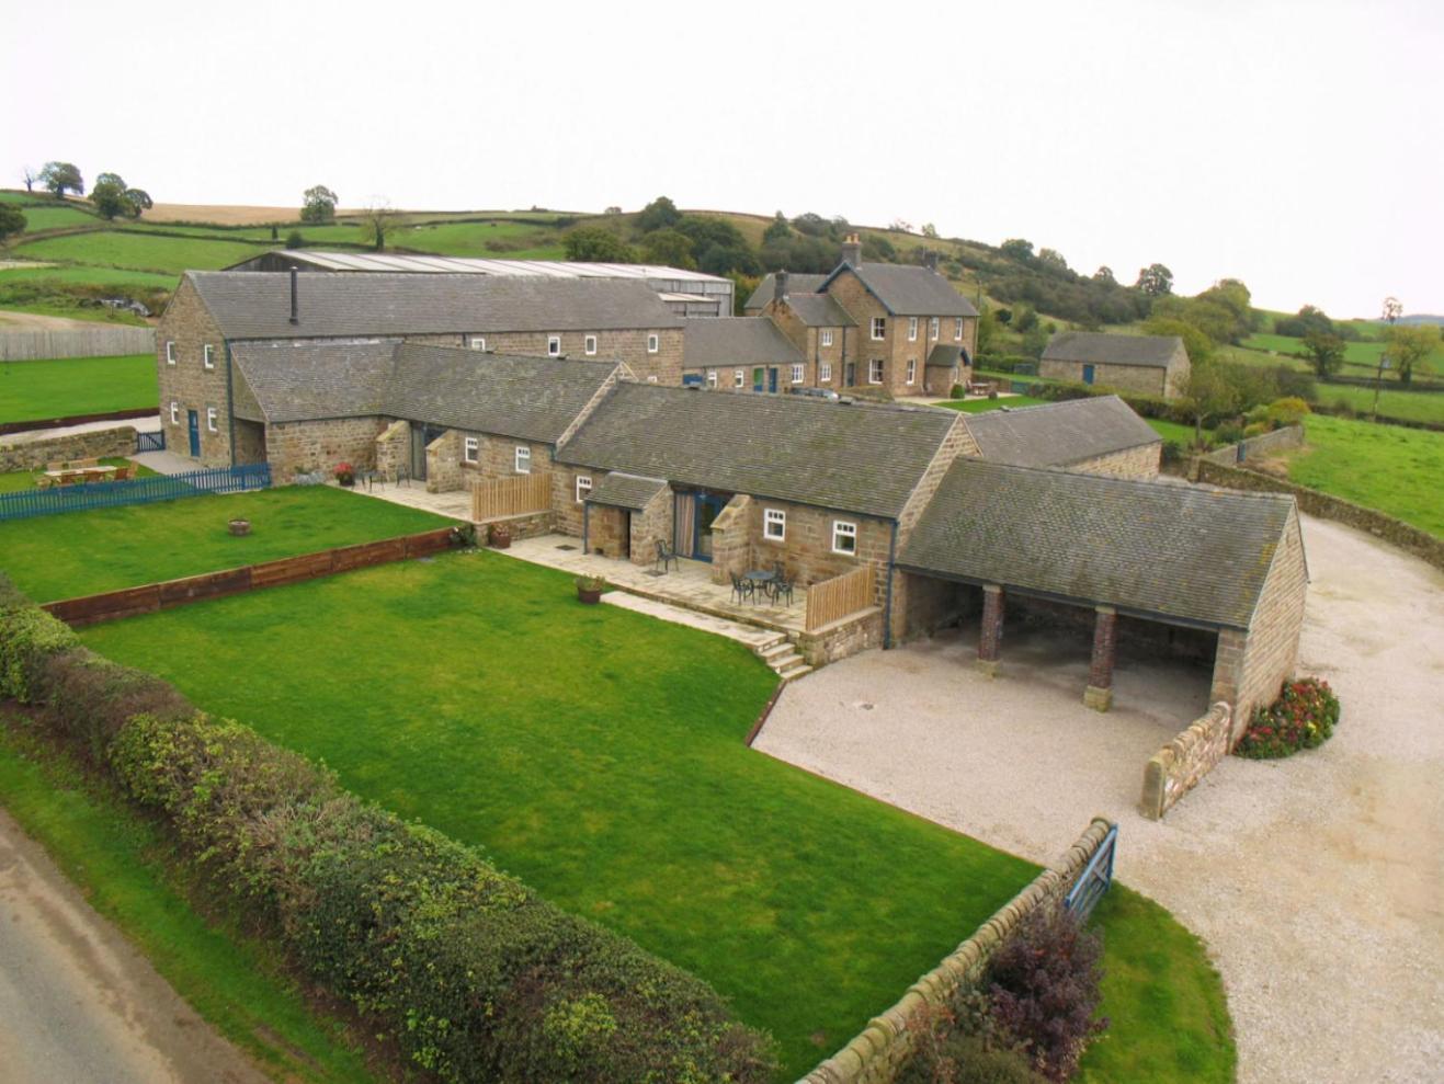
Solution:
[[[1444,537],[1444,433],[1314,416],[1288,476]]]

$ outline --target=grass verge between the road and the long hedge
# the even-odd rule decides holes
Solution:
[[[169,873],[157,830],[0,709],[0,805],[176,992],[276,1080],[368,1081],[341,1026],[315,1013],[270,947],[208,922]]]

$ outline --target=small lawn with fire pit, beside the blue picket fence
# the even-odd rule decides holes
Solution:
[[[230,534],[235,517],[251,521],[251,534]],[[334,486],[189,497],[0,523],[0,570],[36,602],[53,602],[451,523]]]

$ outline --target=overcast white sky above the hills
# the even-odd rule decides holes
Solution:
[[[157,202],[679,206],[1022,237],[1180,293],[1444,312],[1444,4],[25,6],[0,186]]]

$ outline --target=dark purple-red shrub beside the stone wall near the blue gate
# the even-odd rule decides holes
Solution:
[[[988,967],[993,1019],[1047,1080],[1066,1081],[1093,1036],[1102,1000],[1103,943],[1061,906],[1034,911]]]

